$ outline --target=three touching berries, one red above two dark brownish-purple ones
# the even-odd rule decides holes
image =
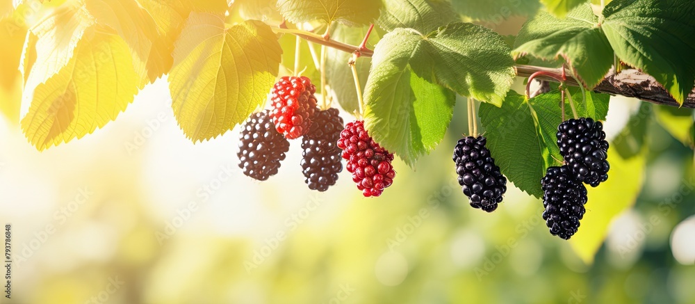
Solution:
[[[275,175],[290,148],[302,137],[302,172],[309,189],[326,191],[343,170],[336,147],[343,119],[338,110],[316,107],[316,86],[307,77],[281,77],[270,91],[272,110],[254,113],[239,135],[239,168],[249,177]]]

